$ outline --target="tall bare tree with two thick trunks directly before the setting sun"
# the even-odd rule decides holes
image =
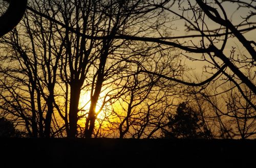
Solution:
[[[68,20],[72,19],[73,15],[61,13],[62,18],[70,17],[65,18],[65,20],[67,19],[65,27],[68,27],[66,34],[69,34],[69,36],[67,36],[68,38],[66,39],[62,39],[67,43],[66,57],[62,59],[62,65],[64,66],[62,68],[62,70],[64,70],[62,79],[67,81],[70,85],[69,136],[74,137],[76,135],[80,91],[83,87],[90,85],[91,104],[86,119],[84,136],[91,137],[96,121],[95,108],[102,91],[102,86],[104,82],[109,82],[107,80],[111,75],[119,72],[117,70],[116,73],[110,73],[113,72],[111,69],[121,65],[121,61],[114,63],[111,63],[111,61],[116,60],[112,59],[112,55],[120,52],[118,48],[120,48],[125,41],[115,39],[114,37],[118,34],[130,31],[132,27],[139,26],[140,22],[150,17],[155,17],[156,13],[154,13],[154,16],[140,18],[140,16],[146,13],[142,8],[144,6],[143,1],[136,3],[130,1],[75,1],[72,5],[75,5],[74,8],[71,8],[75,13],[74,23],[68,22]],[[147,6],[144,7],[146,8]],[[64,10],[65,8],[66,6],[64,4],[63,10],[61,9],[60,12],[66,12],[67,10]],[[54,8],[52,8],[52,10],[54,10]],[[140,18],[139,23],[136,22],[138,18]],[[76,31],[74,32],[74,30]],[[80,34],[78,32],[82,33]],[[141,33],[143,31],[140,30],[138,32],[136,30],[136,32]],[[97,38],[90,38],[93,36],[97,36]],[[74,43],[75,45],[73,45]],[[72,49],[73,46],[75,49]],[[108,64],[113,64],[113,66],[108,66]],[[122,67],[123,66],[120,66],[118,68],[122,69]],[[67,71],[67,69],[69,71]],[[90,75],[91,71],[93,72],[92,75]],[[84,84],[85,86],[83,86]]]

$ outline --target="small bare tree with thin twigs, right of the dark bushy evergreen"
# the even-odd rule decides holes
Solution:
[[[224,86],[223,86],[224,87]],[[243,86],[245,88],[245,86]],[[227,88],[229,90],[226,92]],[[246,90],[246,89],[244,89]],[[255,136],[255,109],[248,103],[232,83],[226,84],[224,93],[215,95],[202,92],[201,98],[210,107],[209,122],[215,122],[216,137],[222,138],[252,138]],[[255,104],[255,95],[247,90],[244,92],[250,102]],[[210,117],[209,117],[210,116]]]

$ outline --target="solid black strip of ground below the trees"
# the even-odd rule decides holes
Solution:
[[[0,167],[256,167],[256,139],[0,139]]]

